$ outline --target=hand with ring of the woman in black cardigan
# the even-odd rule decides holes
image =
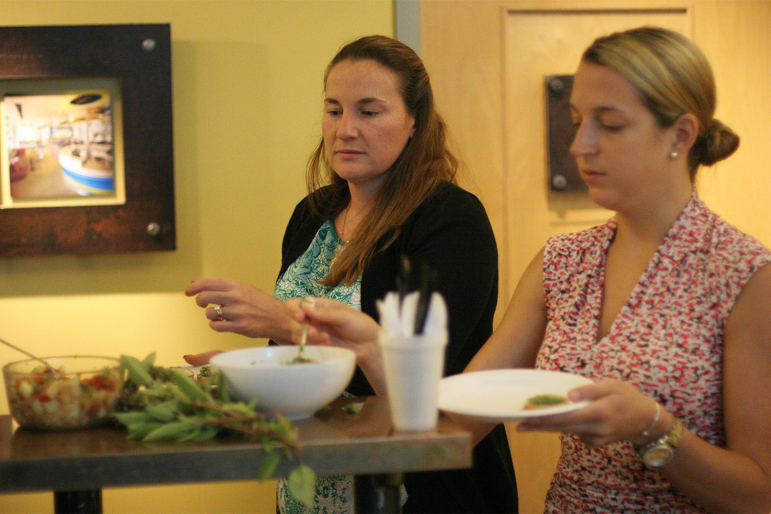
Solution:
[[[209,326],[217,332],[234,332],[250,338],[271,338],[291,344],[298,326],[283,302],[257,287],[219,278],[190,282],[187,296],[206,311]]]

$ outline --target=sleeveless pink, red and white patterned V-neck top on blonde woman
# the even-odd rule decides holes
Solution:
[[[669,229],[608,334],[597,341],[605,257],[614,219],[552,237],[544,251],[548,324],[537,368],[628,381],[696,435],[725,445],[723,330],[749,277],[771,261],[758,241],[695,193]],[[562,435],[547,512],[702,512],[635,448],[588,448]]]

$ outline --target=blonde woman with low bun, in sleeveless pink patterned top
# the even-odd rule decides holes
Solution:
[[[699,166],[739,144],[714,118],[709,63],[665,29],[599,38],[571,111],[589,196],[615,216],[547,240],[466,371],[594,381],[568,392],[588,405],[518,425],[561,432],[547,512],[768,512],[771,251],[695,192]],[[377,331],[323,301],[295,315],[320,343],[366,347]]]

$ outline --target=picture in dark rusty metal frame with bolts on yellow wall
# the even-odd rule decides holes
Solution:
[[[170,26],[0,27],[0,257],[173,250]]]

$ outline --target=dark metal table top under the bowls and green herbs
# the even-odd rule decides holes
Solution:
[[[358,415],[343,406],[364,401]],[[430,432],[394,432],[387,398],[341,398],[295,422],[299,455],[318,475],[377,475],[471,466],[470,434],[439,419]],[[75,491],[125,485],[256,479],[266,452],[237,438],[144,443],[115,427],[75,432],[17,428],[0,415],[0,492]],[[282,462],[275,476],[286,475]]]

